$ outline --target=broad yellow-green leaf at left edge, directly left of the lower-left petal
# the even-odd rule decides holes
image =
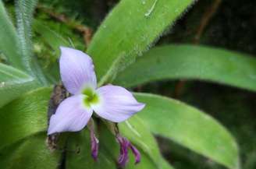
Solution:
[[[47,129],[47,108],[52,88],[24,94],[0,109],[0,150]]]

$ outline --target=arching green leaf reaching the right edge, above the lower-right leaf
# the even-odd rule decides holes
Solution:
[[[203,79],[256,91],[256,59],[219,48],[167,45],[138,58],[115,83],[137,86],[161,79]]]

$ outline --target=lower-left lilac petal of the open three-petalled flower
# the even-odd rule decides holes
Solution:
[[[48,135],[55,132],[76,132],[83,129],[92,115],[92,109],[85,108],[83,100],[83,95],[63,100],[50,118]]]

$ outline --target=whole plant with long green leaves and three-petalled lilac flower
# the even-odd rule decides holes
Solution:
[[[43,69],[32,52],[31,25],[37,1],[16,1],[16,27],[0,1],[0,55],[5,58],[0,63],[0,135],[3,136],[0,168],[111,169],[117,168],[116,154],[120,153],[118,162],[127,168],[172,169],[158,150],[152,135],[155,134],[229,169],[239,169],[236,141],[208,114],[178,100],[149,93],[132,94],[115,86],[187,78],[256,90],[255,78],[251,78],[255,76],[256,61],[236,52],[166,45],[144,53],[193,3],[193,0],[120,1],[87,47],[97,78],[89,56],[62,48],[61,79],[73,96],[59,104],[48,128],[48,102],[53,82],[59,82],[60,78],[55,76],[59,69]],[[40,22],[34,22],[34,31],[56,52],[59,46],[69,46],[65,38]],[[138,55],[142,56],[137,58]],[[108,83],[113,85],[102,86]],[[93,111],[97,117],[90,122]],[[135,114],[137,111],[140,113]],[[135,115],[130,118],[132,114]],[[98,116],[120,123],[102,122]],[[88,129],[83,129],[87,121]],[[52,152],[45,145],[47,129],[48,135],[83,130],[62,134],[57,150]],[[116,149],[118,144],[120,150]],[[134,160],[128,162],[129,149],[140,164],[134,166]],[[94,159],[98,157],[97,161],[88,157],[90,150]]]

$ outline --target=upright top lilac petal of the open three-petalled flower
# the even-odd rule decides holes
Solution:
[[[96,88],[94,64],[89,55],[73,48],[61,47],[59,59],[62,83],[69,93],[81,93],[85,86]]]

